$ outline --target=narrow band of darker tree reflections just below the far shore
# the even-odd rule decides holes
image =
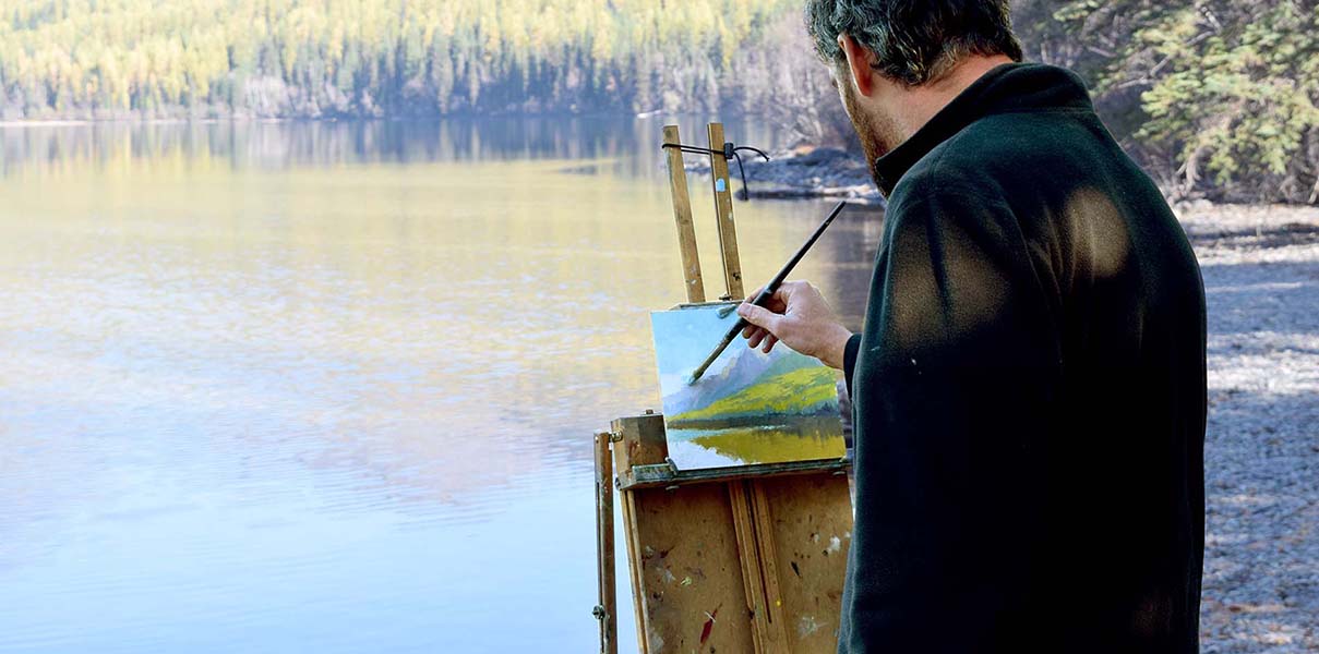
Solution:
[[[233,169],[297,165],[616,158],[615,171],[662,175],[661,128],[675,119],[493,117],[441,120],[91,123],[0,128],[0,174],[215,161]],[[706,120],[683,117],[704,145]],[[729,138],[766,148],[773,134],[740,120]],[[586,167],[578,173],[591,173]]]

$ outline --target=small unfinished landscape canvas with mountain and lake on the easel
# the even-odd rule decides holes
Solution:
[[[714,303],[650,314],[669,458],[679,469],[831,459],[844,455],[838,373],[778,344],[739,340],[687,384],[737,314]]]

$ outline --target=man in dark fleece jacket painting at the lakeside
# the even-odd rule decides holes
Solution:
[[[839,650],[1196,651],[1204,290],[1162,195],[1006,0],[806,13],[888,198],[865,327],[803,282],[739,312],[847,374]]]

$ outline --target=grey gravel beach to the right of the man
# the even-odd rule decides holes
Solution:
[[[1319,208],[1178,215],[1208,302],[1202,651],[1319,651]]]

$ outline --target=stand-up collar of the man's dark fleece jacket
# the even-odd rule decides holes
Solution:
[[[968,86],[910,138],[873,164],[874,182],[885,198],[902,175],[930,150],[972,123],[995,113],[1093,112],[1089,92],[1075,73],[1043,63],[1004,63]]]

